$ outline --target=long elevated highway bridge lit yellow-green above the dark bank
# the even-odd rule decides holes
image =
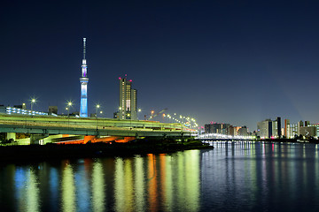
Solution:
[[[7,139],[12,138],[13,140],[16,140],[14,138],[15,133],[31,134],[30,143],[36,143],[37,140],[46,140],[44,142],[46,143],[54,142],[54,140],[82,139],[84,136],[95,136],[96,138],[111,136],[139,138],[191,137],[197,134],[195,130],[191,130],[179,123],[159,123],[156,121],[101,117],[53,117],[6,114],[0,114],[0,133],[7,133]]]

